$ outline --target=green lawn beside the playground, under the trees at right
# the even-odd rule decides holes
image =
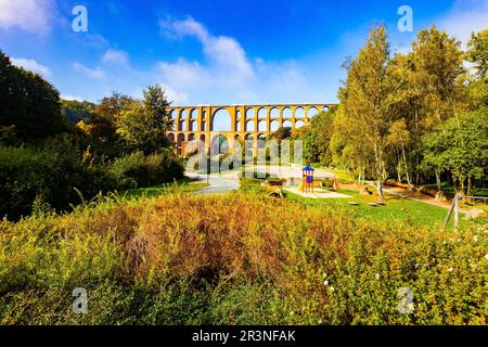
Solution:
[[[438,206],[428,205],[422,202],[409,200],[406,197],[386,194],[386,205],[372,207],[368,203],[375,202],[373,196],[360,195],[356,191],[341,190],[341,193],[350,195],[350,198],[330,198],[330,200],[308,200],[286,192],[291,200],[298,201],[309,206],[319,206],[321,208],[347,209],[358,218],[371,219],[376,221],[399,220],[411,226],[431,226],[441,224],[448,214],[448,209]],[[349,202],[358,203],[359,206],[351,206]],[[460,224],[485,223],[486,219],[466,221],[464,215],[460,215]],[[453,224],[453,217],[450,226]]]

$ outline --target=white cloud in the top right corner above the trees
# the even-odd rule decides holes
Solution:
[[[458,0],[438,24],[465,44],[473,31],[488,28],[488,0]]]

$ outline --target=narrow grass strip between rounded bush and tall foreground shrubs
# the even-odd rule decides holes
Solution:
[[[119,192],[119,195],[124,198],[140,198],[140,197],[154,197],[165,194],[171,194],[176,192],[182,192],[182,193],[193,193],[197,192],[204,188],[208,187],[206,182],[202,181],[194,181],[189,178],[182,179],[175,183],[166,183],[166,184],[158,184],[153,187],[145,187],[145,188],[138,188],[138,189],[130,189],[127,191]]]

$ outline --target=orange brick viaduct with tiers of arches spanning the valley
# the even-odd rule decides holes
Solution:
[[[310,118],[330,110],[334,104],[277,104],[277,105],[223,105],[223,106],[176,106],[168,110],[172,118],[172,130],[168,140],[182,155],[191,152],[190,142],[201,140],[206,151],[213,141],[226,137],[229,147],[234,141],[269,137],[280,127],[292,130],[308,126]]]

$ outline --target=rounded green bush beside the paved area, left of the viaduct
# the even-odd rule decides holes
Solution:
[[[183,165],[169,150],[147,156],[134,152],[116,159],[112,172],[117,177],[120,189],[133,189],[181,179]]]

